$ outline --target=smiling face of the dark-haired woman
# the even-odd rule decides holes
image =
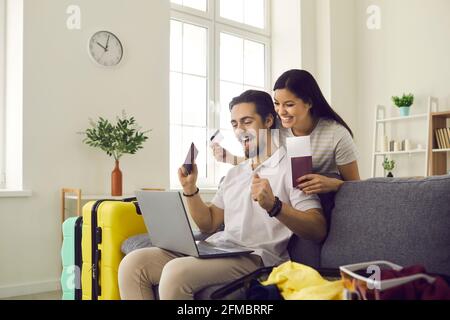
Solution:
[[[304,125],[311,117],[311,106],[288,89],[275,90],[275,111],[284,128],[292,129]]]

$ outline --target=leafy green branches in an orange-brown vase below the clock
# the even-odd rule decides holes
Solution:
[[[143,144],[147,141],[146,133],[141,131],[133,117],[128,118],[125,112],[122,117],[116,117],[116,123],[113,124],[107,119],[99,117],[97,122],[90,119],[91,127],[80,134],[85,135],[83,140],[88,146],[100,148],[106,152],[109,157],[115,160],[115,168],[111,174],[111,195],[122,196],[122,172],[120,171],[119,161],[125,154],[136,154]]]

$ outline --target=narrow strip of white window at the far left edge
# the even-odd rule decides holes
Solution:
[[[23,0],[0,0],[0,15],[0,191],[28,195],[22,158]]]

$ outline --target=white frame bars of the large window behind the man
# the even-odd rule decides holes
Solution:
[[[206,28],[208,32],[207,46],[207,77],[208,77],[208,131],[220,128],[220,34],[228,33],[245,40],[255,41],[265,46],[265,68],[266,76],[264,79],[265,90],[271,90],[271,27],[270,12],[271,0],[265,1],[265,28],[259,29],[236,21],[220,17],[220,0],[207,0],[207,12],[199,11],[193,8],[171,3],[171,20],[177,20],[183,23],[197,25]],[[225,0],[226,1],[226,0]],[[246,84],[244,84],[245,86]],[[218,165],[208,162],[207,179],[199,179],[198,184],[202,189],[217,188],[215,176],[219,171]]]

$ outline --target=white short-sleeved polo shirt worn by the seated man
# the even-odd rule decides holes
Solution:
[[[320,209],[317,196],[307,196],[292,187],[290,162],[281,147],[255,171],[246,161],[230,170],[212,203],[225,211],[225,230],[207,239],[215,245],[235,244],[254,250],[264,265],[279,265],[289,260],[287,245],[293,232],[278,219],[271,218],[252,200],[251,185],[255,173],[268,179],[275,196],[297,210]]]

